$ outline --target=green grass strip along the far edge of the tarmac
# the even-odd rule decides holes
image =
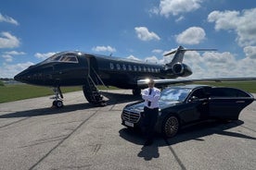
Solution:
[[[228,86],[256,93],[256,81],[239,81],[239,82],[198,82],[198,84],[209,84],[213,86]],[[100,90],[106,88],[99,86]],[[110,90],[117,88],[109,87]],[[61,88],[63,93],[70,91],[82,91],[82,87],[65,87]],[[32,86],[28,84],[4,85],[0,86],[0,103],[19,101],[35,97],[53,95],[51,88]]]

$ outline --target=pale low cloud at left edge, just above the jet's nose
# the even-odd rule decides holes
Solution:
[[[32,62],[19,63],[17,65],[7,65],[6,63],[0,67],[0,78],[14,78],[20,71],[34,65]]]

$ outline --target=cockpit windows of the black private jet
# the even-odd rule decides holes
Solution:
[[[76,55],[53,55],[45,60],[45,63],[49,62],[78,63],[78,59]]]

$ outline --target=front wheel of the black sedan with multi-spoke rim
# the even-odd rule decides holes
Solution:
[[[171,115],[164,121],[162,132],[166,138],[172,138],[176,135],[179,128],[179,119],[175,115]]]

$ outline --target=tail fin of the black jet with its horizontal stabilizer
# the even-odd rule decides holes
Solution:
[[[176,63],[182,63],[186,51],[216,51],[216,49],[186,49],[183,46],[179,46],[176,50],[164,55],[167,56],[175,54],[173,56],[173,60],[171,63],[167,64],[167,66],[172,67]]]

